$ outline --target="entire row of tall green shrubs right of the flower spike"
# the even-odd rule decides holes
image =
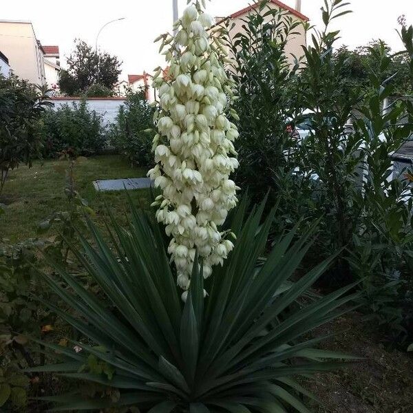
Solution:
[[[413,85],[413,28],[401,30],[406,52],[391,56],[377,42],[354,63],[346,51],[334,52],[339,32],[330,30],[330,21],[348,12],[346,4],[326,3],[324,30],[304,47],[305,61],[290,67],[284,45],[298,28],[282,12],[263,2],[244,19],[242,32],[226,26],[233,57],[228,73],[240,88],[236,180],[255,199],[271,187],[280,209],[275,236],[298,222],[306,231],[320,220],[305,265],[342,248],[319,285],[363,279],[366,313],[386,334],[403,339],[413,313],[412,185],[408,171],[404,179],[392,175],[390,153],[412,134],[411,98],[392,97],[400,92],[400,76],[406,84],[410,73]],[[403,66],[399,78],[396,66]]]

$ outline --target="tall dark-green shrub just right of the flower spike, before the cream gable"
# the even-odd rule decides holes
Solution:
[[[261,199],[268,188],[277,196],[291,187],[294,167],[286,151],[296,140],[288,130],[293,112],[288,85],[294,82],[299,62],[288,59],[284,47],[297,35],[300,24],[264,3],[242,19],[242,31],[236,32],[230,21],[224,27],[225,43],[233,56],[229,74],[239,94],[234,109],[240,117],[237,151],[241,162],[235,180],[248,187],[254,200]]]

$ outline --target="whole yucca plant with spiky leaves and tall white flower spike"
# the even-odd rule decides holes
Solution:
[[[72,310],[44,304],[83,338],[73,350],[43,343],[63,360],[37,371],[118,392],[116,401],[45,398],[56,402],[54,411],[308,412],[300,398],[309,394],[295,377],[349,358],[317,350],[323,337],[306,334],[340,314],[356,296],[346,294],[352,286],[298,305],[330,260],[290,282],[313,231],[296,242],[291,231],[268,253],[275,209],[264,219],[263,202],[247,215],[246,198],[233,209],[233,83],[220,63],[225,50],[218,34],[209,43],[205,28],[213,19],[203,8],[204,0],[195,0],[176,23],[178,34],[159,38],[161,49],[171,45],[170,64],[166,77],[161,70],[153,76],[159,133],[149,175],[162,190],[154,204],[165,229],[131,202],[129,225],[112,217],[109,241],[89,222],[91,237],[79,233],[82,249],[72,251],[98,296],[53,260],[52,276],[39,273]]]

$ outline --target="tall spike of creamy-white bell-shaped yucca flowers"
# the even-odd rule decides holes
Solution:
[[[238,188],[229,175],[238,166],[233,146],[238,131],[227,114],[237,115],[229,107],[234,85],[220,63],[225,50],[212,25],[198,1],[187,7],[175,24],[176,36],[158,38],[161,50],[169,47],[169,67],[167,73],[159,68],[153,81],[158,134],[153,140],[156,167],[148,174],[162,189],[156,218],[172,236],[168,251],[184,290],[195,251],[209,277],[212,266],[222,264],[233,248],[229,231],[219,226],[237,203]]]

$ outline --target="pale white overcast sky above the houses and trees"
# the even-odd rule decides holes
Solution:
[[[413,23],[413,0],[348,1],[352,14],[337,19],[333,27],[341,29],[337,46],[354,48],[372,39],[383,39],[393,50],[401,49],[395,30],[399,27],[397,17],[405,14],[407,23]],[[0,3],[0,19],[32,21],[37,39],[43,45],[59,45],[63,66],[64,56],[70,54],[75,38],[94,45],[102,25],[121,17],[125,19],[107,25],[98,37],[100,49],[123,61],[120,78],[144,70],[151,73],[154,67],[164,65],[153,39],[171,30],[172,0],[0,0]],[[284,3],[295,6],[295,0]],[[301,12],[313,25],[321,24],[323,3],[324,0],[301,0]],[[186,0],[178,0],[180,12],[186,4]],[[211,0],[207,2],[207,12],[223,17],[248,4],[251,0]]]

